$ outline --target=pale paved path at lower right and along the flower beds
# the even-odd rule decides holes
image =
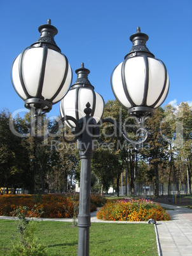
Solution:
[[[160,221],[156,224],[156,235],[158,243],[158,253],[160,256],[192,256],[192,210],[179,206],[161,204],[161,206],[172,209],[168,211],[172,220]],[[1,218],[13,219],[13,217],[1,216]],[[43,218],[45,221],[72,222],[71,218]],[[114,221],[98,220],[96,211],[91,213],[92,222]],[[118,223],[147,223],[147,222],[118,222]],[[151,224],[150,224],[151,225]]]

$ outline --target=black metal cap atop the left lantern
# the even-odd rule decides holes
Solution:
[[[39,47],[42,45],[48,46],[48,48],[55,50],[57,52],[61,52],[60,48],[58,48],[55,43],[54,36],[58,33],[56,27],[51,25],[51,20],[48,19],[47,24],[39,26],[39,32],[41,33],[40,38],[35,43],[32,43],[31,46]]]

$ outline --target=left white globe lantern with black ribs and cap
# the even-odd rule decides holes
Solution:
[[[39,32],[38,41],[25,48],[11,67],[14,89],[36,116],[50,111],[72,82],[72,69],[54,41],[58,31],[51,20],[41,25]]]

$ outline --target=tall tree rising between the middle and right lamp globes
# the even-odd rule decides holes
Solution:
[[[118,103],[118,101],[107,101],[104,111],[104,118],[106,117],[113,118],[116,124],[128,133],[129,138],[135,139],[134,119],[128,117],[127,110],[121,108],[121,105]],[[137,169],[137,164],[135,165],[134,162],[135,152],[131,150],[134,145],[128,143],[128,141],[123,138],[122,134],[120,133],[120,131],[118,131],[118,129],[116,129],[116,127],[112,128],[110,125],[107,125],[107,127],[104,127],[104,133],[111,134],[111,136],[114,135],[113,146],[111,146],[110,148],[111,150],[113,150],[114,153],[116,153],[119,159],[118,169],[116,169],[116,187],[118,194],[120,187],[120,175],[125,167],[127,167],[128,180],[133,191],[134,171]]]

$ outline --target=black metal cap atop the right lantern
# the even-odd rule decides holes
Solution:
[[[148,57],[154,58],[153,53],[151,53],[146,46],[146,42],[148,39],[149,36],[142,33],[141,28],[137,27],[137,33],[130,36],[130,41],[132,41],[133,46],[130,52],[125,56],[125,59],[139,55],[147,55]]]

